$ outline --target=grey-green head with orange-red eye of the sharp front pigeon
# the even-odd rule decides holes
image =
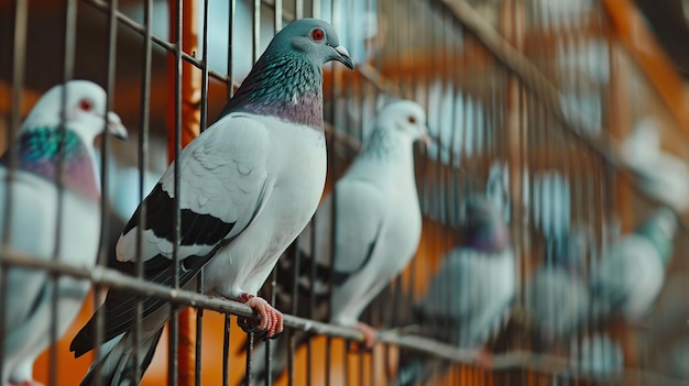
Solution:
[[[305,53],[316,66],[338,60],[350,69],[354,68],[332,25],[319,19],[299,19],[287,24],[273,37],[266,53],[287,47]]]

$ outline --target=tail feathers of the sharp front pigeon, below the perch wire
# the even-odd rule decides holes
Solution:
[[[146,371],[157,342],[163,334],[163,328],[160,328],[155,333],[145,338],[140,344],[139,361],[141,366],[141,374]],[[141,379],[132,379],[132,373],[134,371],[134,357],[131,352],[131,340],[129,333],[124,334],[114,344],[109,344],[110,350],[101,355],[97,363],[94,363],[86,373],[86,376],[79,384],[80,386],[90,386],[96,384],[96,379],[100,378],[102,385],[110,386],[124,386],[124,385],[138,385]],[[103,346],[105,350],[106,346]]]

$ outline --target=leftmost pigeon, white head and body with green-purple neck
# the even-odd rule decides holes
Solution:
[[[72,80],[41,97],[11,145],[17,167],[11,179],[9,153],[0,159],[0,218],[10,216],[9,227],[0,221],[0,234],[9,232],[9,249],[45,261],[55,255],[59,262],[79,267],[96,264],[100,177],[94,140],[106,129],[118,137],[127,137],[120,118],[106,111],[106,91],[91,81]],[[62,196],[57,188],[59,178]],[[10,207],[6,207],[8,195]],[[57,242],[59,250],[55,251]],[[81,308],[89,283],[62,276],[53,286],[45,272],[19,267],[8,268],[7,279],[0,384],[32,385],[33,363],[51,344],[51,322],[57,323],[57,337],[65,333]],[[55,290],[57,318],[53,319]]]

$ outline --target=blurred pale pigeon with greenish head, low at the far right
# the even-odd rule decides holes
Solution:
[[[645,316],[665,283],[676,229],[675,213],[660,208],[634,233],[602,252],[589,273],[592,318],[621,316],[638,321]]]

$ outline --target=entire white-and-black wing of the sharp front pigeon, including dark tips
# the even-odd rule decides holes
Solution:
[[[179,285],[187,284],[214,256],[232,242],[259,214],[272,184],[266,169],[266,128],[247,114],[229,114],[201,133],[179,155],[181,246]],[[144,229],[144,278],[172,285],[172,252],[175,201],[173,165],[146,197]],[[134,271],[136,233],[141,207],[124,228],[117,252],[122,271]],[[132,323],[133,296],[110,289],[106,312],[105,341],[127,331]],[[143,317],[164,301],[147,298]],[[94,348],[94,316],[72,342],[79,356]]]

